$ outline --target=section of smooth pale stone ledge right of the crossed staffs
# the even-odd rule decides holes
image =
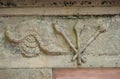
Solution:
[[[80,67],[120,67],[120,55],[86,55],[86,63]]]

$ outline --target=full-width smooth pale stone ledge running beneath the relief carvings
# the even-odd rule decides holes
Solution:
[[[120,67],[120,55],[84,55],[86,62],[77,66],[76,61],[71,62],[72,56],[39,56],[35,58],[7,57],[0,58],[0,68],[94,68],[94,67]]]

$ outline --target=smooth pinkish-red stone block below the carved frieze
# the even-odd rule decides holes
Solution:
[[[53,79],[120,79],[120,68],[53,69]]]

